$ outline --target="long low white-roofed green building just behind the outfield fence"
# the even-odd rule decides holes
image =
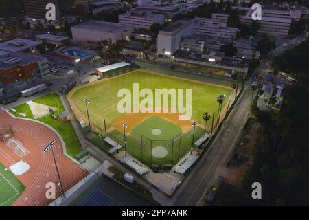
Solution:
[[[95,72],[101,77],[101,78],[108,78],[111,76],[117,76],[119,74],[123,74],[125,72],[130,71],[131,64],[126,63],[124,61],[119,63],[114,63],[112,65],[107,65],[105,67],[100,67],[98,69],[95,69]]]

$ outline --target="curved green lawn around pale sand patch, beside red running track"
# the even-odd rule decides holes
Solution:
[[[56,114],[59,114],[65,111],[65,107],[63,107],[62,102],[57,94],[47,94],[45,96],[42,96],[32,101],[38,104],[46,104],[51,107],[56,107],[58,109],[57,111],[55,111]],[[14,107],[14,109],[17,112],[14,113],[10,111],[10,113],[15,115],[16,117],[21,117],[19,113],[25,113],[27,114],[27,118],[34,119],[32,112],[30,110],[30,107],[27,104],[21,104],[17,107]],[[62,137],[62,140],[65,142],[68,155],[70,155],[71,157],[74,157],[76,154],[82,151],[82,145],[80,144],[80,141],[78,140],[78,137],[73,129],[71,122],[69,121],[62,122],[59,118],[54,120],[54,118],[52,118],[51,115],[38,118],[37,120],[45,124],[48,124],[49,126],[52,126],[52,128],[58,131],[58,133]]]

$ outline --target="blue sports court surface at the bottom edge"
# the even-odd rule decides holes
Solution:
[[[113,199],[111,197],[108,197],[104,192],[95,188],[95,190],[91,192],[91,195],[89,195],[87,199],[84,199],[79,206],[108,206],[112,202]]]

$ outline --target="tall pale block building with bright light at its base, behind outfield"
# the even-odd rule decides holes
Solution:
[[[170,56],[179,50],[180,42],[184,36],[192,34],[193,19],[180,19],[172,25],[168,25],[158,34],[157,53]]]

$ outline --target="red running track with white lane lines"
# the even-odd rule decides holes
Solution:
[[[23,161],[30,165],[30,170],[17,178],[25,185],[25,191],[13,206],[47,206],[52,202],[45,196],[47,182],[54,182],[57,186],[58,176],[52,151],[43,152],[47,144],[56,140],[54,153],[59,168],[62,186],[65,191],[78,183],[86,175],[75,163],[63,155],[60,138],[54,131],[38,122],[12,118],[0,109],[0,127],[10,124],[13,127],[16,140],[19,140],[30,151],[23,157]],[[0,142],[0,162],[9,167],[19,162],[20,158],[5,143]],[[60,196],[57,186],[56,197]]]

